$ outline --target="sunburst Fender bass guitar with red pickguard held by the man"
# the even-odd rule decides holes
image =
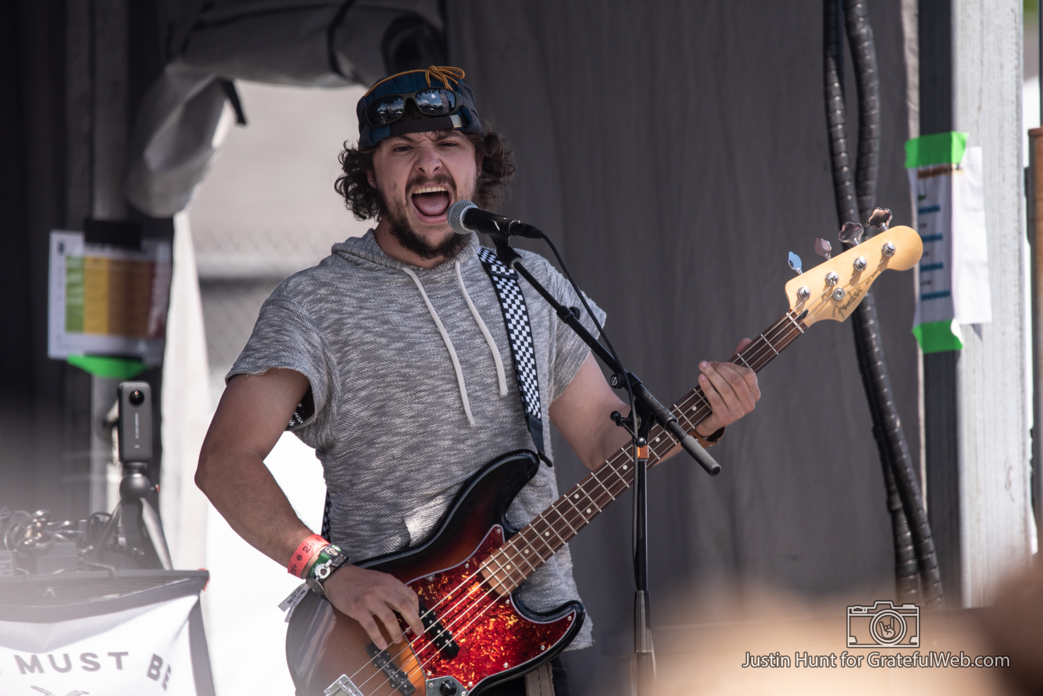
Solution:
[[[812,323],[843,321],[887,269],[906,270],[923,246],[915,230],[895,226],[785,284],[790,309],[731,362],[759,371]],[[671,409],[687,431],[710,414],[696,387]],[[679,447],[659,426],[649,434],[648,466]],[[359,566],[389,573],[420,598],[427,628],[379,650],[354,619],[309,592],[294,607],[286,656],[298,696],[477,696],[560,653],[583,622],[583,605],[552,611],[525,606],[518,585],[633,483],[629,447],[517,529],[506,517],[514,496],[540,466],[534,452],[505,454],[462,487],[431,536]],[[399,619],[401,621],[401,619]]]

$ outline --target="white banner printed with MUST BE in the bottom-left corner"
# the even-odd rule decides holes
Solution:
[[[0,621],[3,696],[196,696],[198,596],[54,623]]]

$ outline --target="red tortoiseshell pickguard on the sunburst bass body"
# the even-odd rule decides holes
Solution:
[[[573,611],[547,623],[530,621],[517,611],[510,597],[496,597],[482,584],[477,571],[503,543],[503,528],[493,526],[467,560],[408,583],[460,646],[456,657],[445,659],[428,637],[413,641],[426,678],[453,676],[469,691],[482,679],[550,650],[576,620]],[[402,626],[407,630],[405,623]],[[412,632],[407,635],[412,638]]]

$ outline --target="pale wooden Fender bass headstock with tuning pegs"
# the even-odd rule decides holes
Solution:
[[[828,245],[826,247],[828,249]],[[920,261],[923,242],[913,227],[898,225],[827,259],[785,284],[790,309],[811,326],[822,319],[843,321],[887,269],[908,270]]]

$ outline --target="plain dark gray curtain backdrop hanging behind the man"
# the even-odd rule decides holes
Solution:
[[[673,402],[696,384],[701,359],[727,359],[781,316],[786,253],[812,266],[815,238],[838,231],[820,1],[450,0],[447,11],[451,63],[514,145],[506,210],[558,242],[654,393]],[[869,11],[883,110],[878,203],[909,224],[900,6],[881,0]],[[849,61],[845,73],[853,112]],[[856,134],[853,113],[849,125]],[[912,271],[886,274],[874,292],[918,460]],[[686,456],[650,474],[656,626],[712,616],[698,589],[741,580],[809,597],[893,595],[891,523],[851,327],[814,326],[760,386],[756,411],[711,452],[719,477]],[[555,451],[567,487],[582,467],[563,442]],[[625,675],[630,514],[621,500],[572,544],[597,641],[566,653],[574,694],[614,692]]]

